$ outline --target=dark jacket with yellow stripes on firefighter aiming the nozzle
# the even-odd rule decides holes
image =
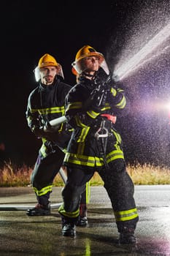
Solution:
[[[65,155],[65,165],[103,167],[104,162],[124,159],[120,134],[112,118],[107,116],[125,113],[125,105],[123,89],[117,88],[112,80],[109,86],[105,83],[100,88],[100,80],[95,83],[80,77],[80,83],[66,96],[65,116],[74,132]]]

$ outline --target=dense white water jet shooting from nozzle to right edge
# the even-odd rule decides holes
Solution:
[[[146,58],[149,54],[153,52],[158,46],[160,46],[168,37],[170,36],[170,23],[166,25],[161,31],[158,32],[158,34],[155,35],[152,39],[150,39],[149,42],[147,42],[144,47],[139,50],[138,53],[136,53],[131,59],[129,59],[127,62],[125,62],[123,65],[115,69],[114,72],[114,78],[119,78],[119,80],[123,80],[123,78],[128,77],[128,75],[131,74],[131,72],[134,72],[134,70],[141,67],[145,61],[144,58]],[[161,54],[163,50],[167,50],[167,47],[165,49],[162,49],[158,54]],[[154,58],[152,56],[150,60]]]

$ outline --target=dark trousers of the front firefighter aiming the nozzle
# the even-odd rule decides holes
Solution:
[[[124,159],[115,159],[109,162],[107,167],[95,170],[104,181],[104,188],[112,203],[118,232],[123,232],[125,227],[135,230],[139,216],[134,201],[134,184],[125,170]],[[68,180],[62,191],[63,205],[58,211],[70,222],[74,220],[76,222],[81,194],[85,191],[85,183],[92,178],[94,169],[76,166],[67,167],[67,172]]]

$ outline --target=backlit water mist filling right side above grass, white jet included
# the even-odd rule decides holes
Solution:
[[[135,13],[131,7],[131,22],[112,38],[107,54],[131,102],[129,118],[117,118],[117,129],[129,162],[170,165],[170,1],[140,7]]]

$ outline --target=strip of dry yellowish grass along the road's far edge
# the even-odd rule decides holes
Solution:
[[[17,167],[12,162],[4,162],[0,169],[0,187],[28,187],[33,167],[23,165]],[[170,167],[154,166],[151,164],[127,165],[127,171],[135,185],[158,185],[170,184]],[[98,173],[90,180],[91,186],[103,185]],[[53,185],[63,187],[63,179],[60,175],[55,176]]]

